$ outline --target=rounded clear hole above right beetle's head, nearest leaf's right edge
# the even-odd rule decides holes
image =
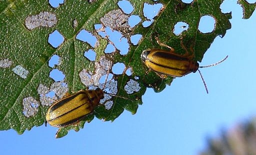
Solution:
[[[200,18],[198,30],[202,33],[210,33],[215,28],[215,19],[210,15],[203,15]]]

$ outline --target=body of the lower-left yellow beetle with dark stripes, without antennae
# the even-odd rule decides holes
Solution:
[[[64,96],[48,108],[46,121],[55,127],[78,123],[94,110],[103,97],[103,91],[100,88],[81,89],[74,94]]]

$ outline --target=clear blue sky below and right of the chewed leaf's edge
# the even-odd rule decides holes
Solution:
[[[63,138],[55,139],[57,128],[50,125],[22,135],[0,131],[1,154],[196,154],[205,148],[206,136],[254,116],[256,16],[241,19],[241,7],[230,1],[232,27],[215,38],[200,63],[228,55],[221,64],[200,69],[208,94],[199,73],[190,73],[160,93],[148,88],[136,114],[124,111],[113,122],[94,119]]]

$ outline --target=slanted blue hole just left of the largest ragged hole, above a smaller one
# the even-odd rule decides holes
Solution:
[[[89,43],[92,47],[95,47],[97,42],[97,38],[85,29],[79,31],[75,38],[83,42]]]

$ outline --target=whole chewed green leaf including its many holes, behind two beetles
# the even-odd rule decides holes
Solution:
[[[141,61],[143,50],[163,48],[155,36],[179,54],[184,53],[182,37],[186,47],[194,45],[194,60],[200,61],[213,39],[230,28],[231,18],[221,13],[221,0],[0,3],[1,130],[22,133],[42,125],[51,104],[81,89],[99,87],[104,92],[99,101],[103,106],[96,106],[76,126],[61,128],[57,137],[82,128],[94,116],[113,121],[124,109],[134,114],[146,87],[159,92],[170,84],[172,77],[162,79]],[[204,15],[213,18],[209,32],[198,29]],[[180,30],[174,32],[179,22]]]

